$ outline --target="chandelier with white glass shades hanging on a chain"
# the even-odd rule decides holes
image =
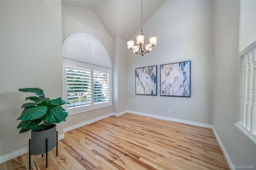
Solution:
[[[136,54],[140,54],[143,56],[145,53],[149,53],[152,50],[152,47],[156,45],[157,37],[150,37],[149,44],[145,45],[144,43],[144,36],[142,31],[142,0],[141,0],[141,28],[140,28],[140,35],[136,37],[137,44],[134,46],[134,41],[128,41],[127,47],[128,49],[132,50]]]

